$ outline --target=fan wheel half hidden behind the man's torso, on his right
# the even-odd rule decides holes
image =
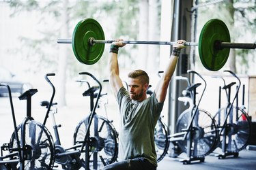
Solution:
[[[155,127],[155,149],[158,163],[168,152],[169,149],[169,129],[168,126],[158,119]]]

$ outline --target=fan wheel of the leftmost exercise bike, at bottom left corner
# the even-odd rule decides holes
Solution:
[[[21,139],[21,124],[17,127],[18,139]],[[54,163],[55,148],[53,138],[46,127],[34,120],[25,124],[25,146],[27,156],[25,169],[52,169]],[[10,139],[10,148],[18,148],[15,133]],[[25,153],[26,154],[26,153]],[[19,169],[20,165],[16,166]]]

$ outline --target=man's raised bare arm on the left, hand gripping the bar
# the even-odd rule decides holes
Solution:
[[[114,48],[113,46],[114,45]],[[122,88],[123,83],[119,77],[119,66],[117,60],[118,47],[122,47],[125,44],[122,43],[122,39],[117,39],[111,44],[111,50],[109,54],[109,84],[113,91],[113,95],[117,98],[117,92]]]

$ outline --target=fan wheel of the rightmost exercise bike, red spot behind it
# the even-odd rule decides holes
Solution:
[[[238,107],[232,109],[226,124],[224,124],[225,109],[220,109],[214,116],[220,134],[220,142],[216,147],[222,148],[223,137],[226,136],[226,152],[239,152],[248,145],[251,136],[251,121],[242,109]],[[227,129],[226,135],[223,134],[224,128]]]

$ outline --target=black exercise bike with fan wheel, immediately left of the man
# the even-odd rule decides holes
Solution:
[[[80,80],[88,85],[88,89],[83,92],[83,96],[90,97],[90,114],[76,126],[74,131],[74,144],[83,144],[85,150],[81,150],[80,159],[83,167],[91,169],[102,169],[117,160],[118,135],[111,121],[96,114],[98,101],[102,96],[102,85],[91,73],[81,72],[80,75],[89,75],[97,86],[90,86],[88,81]],[[103,94],[104,95],[104,94]],[[96,101],[94,102],[94,99]]]

